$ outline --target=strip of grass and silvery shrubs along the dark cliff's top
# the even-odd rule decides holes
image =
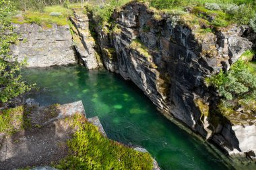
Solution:
[[[255,19],[251,20],[256,10],[256,2],[253,0],[151,0],[150,5],[162,10],[177,7],[201,8],[201,11],[207,12],[205,15],[213,16],[214,19],[211,21],[213,26],[226,27],[232,22],[238,24],[251,22],[253,24],[255,21]],[[205,17],[205,15],[201,15],[201,17]]]

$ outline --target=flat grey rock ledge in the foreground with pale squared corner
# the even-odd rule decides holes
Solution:
[[[45,123],[43,117],[48,114],[42,111],[49,108],[40,107],[32,111],[32,124],[40,118],[41,123],[36,123],[42,126],[25,129],[3,139],[0,148],[0,169],[49,165],[67,155],[66,142],[75,129],[62,118],[77,113],[85,116],[84,106],[82,101],[59,105],[57,117]]]

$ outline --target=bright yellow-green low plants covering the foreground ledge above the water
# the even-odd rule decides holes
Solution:
[[[140,153],[133,148],[110,140],[80,114],[66,119],[77,131],[67,142],[69,156],[57,169],[149,169],[153,160],[149,153]]]

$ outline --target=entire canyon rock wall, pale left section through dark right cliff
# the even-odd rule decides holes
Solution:
[[[212,112],[218,97],[205,83],[206,77],[227,71],[255,45],[248,26],[233,24],[202,34],[203,26],[191,23],[189,15],[179,22],[176,15],[158,18],[147,5],[135,2],[114,11],[115,25],[97,26],[93,14],[83,10],[73,9],[73,26],[16,25],[23,42],[11,46],[13,56],[27,57],[28,67],[69,65],[76,60],[87,69],[104,65],[135,83],[166,118],[179,120],[222,151],[256,153],[255,122],[231,124]]]

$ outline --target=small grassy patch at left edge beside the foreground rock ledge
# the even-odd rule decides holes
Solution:
[[[30,120],[26,118],[30,114],[24,106],[0,111],[0,132],[13,134],[31,126]]]

